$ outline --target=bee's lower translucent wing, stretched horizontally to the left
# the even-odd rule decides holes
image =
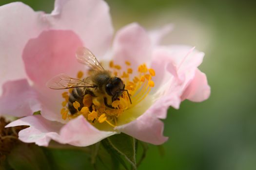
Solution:
[[[59,74],[53,77],[46,83],[47,87],[52,89],[66,89],[66,88],[74,88],[74,87],[95,87],[88,82],[71,78],[66,74]]]

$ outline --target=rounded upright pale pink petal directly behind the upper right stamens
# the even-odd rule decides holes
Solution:
[[[132,23],[120,29],[113,42],[113,61],[123,65],[125,61],[138,65],[151,60],[151,41],[147,32],[137,23]]]

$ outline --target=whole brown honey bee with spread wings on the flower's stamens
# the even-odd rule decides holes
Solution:
[[[102,97],[106,107],[115,109],[109,102],[119,100],[123,91],[126,91],[130,102],[131,98],[128,90],[125,89],[123,81],[119,77],[112,76],[111,72],[105,70],[98,62],[95,55],[85,47],[79,48],[76,52],[77,60],[90,68],[91,75],[83,80],[71,78],[66,74],[59,74],[47,82],[47,86],[51,89],[67,89],[73,88],[69,95],[68,109],[72,115],[77,113],[73,102],[79,102],[81,109],[83,98],[86,94],[92,97]],[[111,100],[111,101],[109,101]]]

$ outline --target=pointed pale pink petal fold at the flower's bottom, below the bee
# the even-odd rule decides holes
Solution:
[[[117,134],[117,132],[100,131],[91,125],[83,116],[70,120],[60,130],[61,143],[75,146],[89,146]]]

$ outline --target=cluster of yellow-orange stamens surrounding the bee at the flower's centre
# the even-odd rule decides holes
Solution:
[[[154,82],[152,81],[152,77],[156,75],[154,69],[147,68],[145,64],[142,64],[138,66],[138,70],[134,72],[130,66],[131,63],[128,61],[125,62],[125,68],[115,65],[113,61],[109,63],[110,72],[113,76],[121,78],[125,85],[125,89],[122,91],[120,97],[110,102],[111,104],[108,104],[108,101],[112,101],[111,96],[95,96],[91,93],[87,93],[83,96],[82,102],[73,102],[76,113],[71,114],[68,102],[71,101],[70,96],[72,95],[73,89],[71,88],[69,91],[62,93],[62,97],[65,99],[65,101],[62,102],[63,108],[60,111],[62,119],[74,119],[79,115],[83,115],[92,124],[107,123],[112,127],[116,127],[118,117],[121,114],[125,114],[125,110],[134,107],[144,100],[151,88],[154,87]],[[88,74],[90,75],[90,70]],[[83,72],[79,71],[77,78],[83,80],[83,75]],[[83,90],[85,90],[85,88]]]

